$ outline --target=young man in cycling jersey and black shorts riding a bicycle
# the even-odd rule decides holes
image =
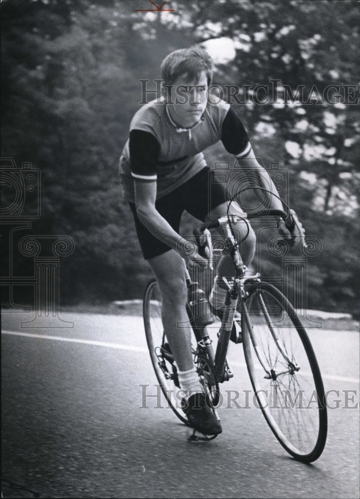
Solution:
[[[220,423],[206,405],[191,355],[191,330],[185,304],[187,290],[184,262],[189,268],[204,260],[196,250],[188,254],[187,240],[179,235],[180,217],[187,211],[202,222],[227,213],[225,187],[213,181],[202,151],[222,141],[240,167],[251,170],[273,193],[276,188],[255,159],[247,133],[230,105],[211,102],[213,62],[200,46],[170,53],[162,62],[162,97],[145,104],[134,115],[129,139],[120,158],[123,191],[134,215],[145,259],[154,271],[163,298],[162,320],[176,360],[184,412],[190,424],[204,435],[221,433]],[[218,101],[219,99],[217,99]],[[266,203],[282,210],[281,202],[269,194]],[[271,198],[271,199],[270,199]],[[267,206],[269,206],[267,205]],[[231,208],[231,207],[230,207]],[[238,214],[239,212],[236,211]],[[235,229],[241,254],[248,265],[254,255],[255,235],[246,215]],[[289,225],[289,228],[286,226]],[[281,221],[279,232],[294,241],[297,229]],[[221,314],[226,289],[222,276],[233,276],[230,258],[222,256],[210,294],[216,314]],[[180,327],[178,325],[181,324]]]

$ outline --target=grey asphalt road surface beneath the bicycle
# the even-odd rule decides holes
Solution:
[[[27,315],[3,314],[4,498],[359,497],[359,333],[311,331],[326,390],[339,390],[329,402],[340,407],[329,410],[323,455],[303,465],[253,404],[224,404],[223,433],[210,443],[188,442],[156,397],[140,409],[141,385],[157,391],[141,318],[62,318],[74,327],[24,328]],[[251,389],[241,346],[231,346],[227,389]]]

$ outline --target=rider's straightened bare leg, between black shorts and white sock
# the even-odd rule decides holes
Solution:
[[[187,289],[184,260],[175,250],[148,260],[163,298],[162,319],[170,348],[180,371],[194,367],[191,328],[186,313]]]

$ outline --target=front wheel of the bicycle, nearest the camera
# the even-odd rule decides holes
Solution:
[[[311,463],[324,450],[324,385],[309,337],[285,296],[267,283],[252,284],[243,302],[246,364],[257,402],[280,444]]]

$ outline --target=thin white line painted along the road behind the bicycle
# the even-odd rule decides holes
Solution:
[[[46,334],[23,333],[23,332],[18,332],[18,331],[6,331],[6,330],[1,331],[1,334],[11,334],[13,336],[25,336],[27,338],[40,338],[40,339],[53,340],[53,341],[68,341],[70,343],[83,343],[85,345],[103,346],[106,348],[117,348],[119,350],[131,350],[133,352],[148,352],[147,348],[143,348],[140,346],[122,345],[121,343],[109,343],[106,341],[83,340],[83,339],[79,339],[79,338],[66,338],[65,336],[50,336],[50,335],[46,335]],[[230,361],[230,366],[231,365],[246,368],[245,362]],[[306,373],[303,373],[303,374],[306,374]],[[336,380],[336,381],[345,381],[348,383],[359,383],[359,379],[347,378],[345,376],[335,376],[335,375],[331,375],[331,374],[323,374],[322,377],[324,379],[331,379],[331,380]]]

